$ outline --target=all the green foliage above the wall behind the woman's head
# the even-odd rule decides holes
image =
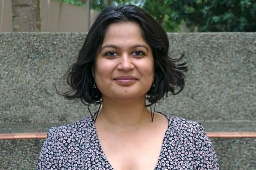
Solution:
[[[59,0],[87,6],[87,0]],[[142,7],[167,32],[256,32],[256,0],[90,0],[100,11],[109,5]]]

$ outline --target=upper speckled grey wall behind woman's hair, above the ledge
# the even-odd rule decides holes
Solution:
[[[0,122],[69,122],[89,115],[54,92],[86,33],[0,34]],[[184,91],[157,110],[190,120],[256,121],[256,33],[170,33],[170,54],[185,51]],[[95,109],[94,106],[92,108]]]

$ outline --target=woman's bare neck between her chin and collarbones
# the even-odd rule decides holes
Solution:
[[[151,122],[150,111],[145,106],[145,97],[132,102],[103,98],[103,106],[96,122],[110,127],[135,130],[145,122]]]

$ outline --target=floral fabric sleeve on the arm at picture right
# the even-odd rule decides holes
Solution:
[[[219,170],[218,157],[202,125],[195,135],[197,170]]]

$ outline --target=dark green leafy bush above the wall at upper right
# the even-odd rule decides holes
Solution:
[[[256,0],[172,0],[171,9],[199,32],[256,31]]]

